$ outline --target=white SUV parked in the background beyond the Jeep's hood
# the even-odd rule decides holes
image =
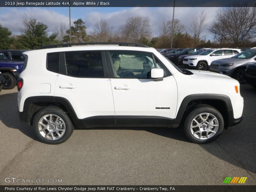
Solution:
[[[240,49],[231,48],[208,49],[198,55],[185,57],[183,65],[186,65],[188,68],[196,68],[197,70],[206,70],[212,61],[230,58],[240,52]]]

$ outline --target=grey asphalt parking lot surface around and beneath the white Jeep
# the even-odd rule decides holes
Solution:
[[[204,145],[167,128],[75,129],[66,142],[47,145],[20,123],[17,87],[2,90],[0,185],[37,184],[6,183],[11,177],[60,185],[221,185],[229,176],[256,185],[256,89],[240,90],[244,120]]]

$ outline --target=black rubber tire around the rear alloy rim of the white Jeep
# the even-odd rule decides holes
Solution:
[[[50,124],[49,122],[47,122],[47,124],[46,124],[47,126],[42,126],[42,125],[40,126],[39,125],[39,122],[41,122],[41,118],[43,118],[44,116],[48,116],[50,114],[52,114],[52,122],[54,122],[53,121],[54,120],[54,116],[59,116],[60,117],[61,121],[59,123],[62,124],[62,127],[58,127],[58,128],[63,128],[63,129],[65,128],[64,132],[58,131],[58,133],[60,135],[62,135],[62,133],[63,133],[62,136],[58,136],[58,134],[56,132],[56,127],[54,127],[54,125]],[[55,119],[55,123],[56,123],[56,119]],[[49,120],[50,120],[50,118],[49,118]],[[48,124],[49,124],[49,126],[48,126]],[[47,129],[44,129],[44,128],[47,128]],[[53,131],[51,131],[51,128],[52,128]],[[40,132],[39,129],[45,130],[45,131],[41,131]],[[51,107],[47,107],[47,108],[41,109],[36,114],[36,116],[34,118],[34,121],[33,121],[33,130],[34,130],[34,133],[36,134],[36,137],[40,141],[42,141],[43,143],[47,143],[47,144],[60,144],[60,143],[63,143],[64,141],[68,140],[68,138],[71,136],[71,134],[74,131],[74,126],[73,126],[72,122],[70,121],[70,118],[68,117],[68,115],[62,109],[60,109],[58,107],[51,106]],[[48,134],[49,137],[42,135],[42,134],[46,135],[48,132],[49,132],[49,134]],[[49,138],[52,137],[51,136],[52,134],[56,137],[55,138],[56,140],[49,139]],[[47,138],[45,138],[45,137],[47,137]]]

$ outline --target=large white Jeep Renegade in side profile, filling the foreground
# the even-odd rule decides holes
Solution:
[[[229,76],[180,70],[142,44],[71,45],[24,52],[19,115],[42,142],[64,142],[73,125],[181,125],[189,140],[205,143],[242,120],[239,83]]]

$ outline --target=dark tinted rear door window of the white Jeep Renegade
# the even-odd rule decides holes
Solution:
[[[67,73],[77,77],[104,77],[101,52],[66,52]]]

